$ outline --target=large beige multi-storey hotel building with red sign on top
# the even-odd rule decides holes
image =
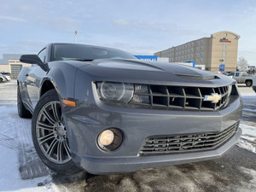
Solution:
[[[168,57],[170,62],[195,61],[195,65],[204,65],[209,71],[218,71],[220,64],[225,64],[225,71],[236,71],[239,38],[235,32],[216,32],[210,38],[199,38],[154,55]]]

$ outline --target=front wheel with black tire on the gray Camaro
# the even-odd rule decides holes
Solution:
[[[32,140],[49,169],[59,174],[81,171],[71,157],[61,102],[55,90],[49,90],[38,101],[32,116]]]

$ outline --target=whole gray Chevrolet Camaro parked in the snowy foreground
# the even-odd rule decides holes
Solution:
[[[118,49],[48,44],[22,55],[18,113],[55,172],[133,172],[220,157],[241,136],[236,81],[139,61]]]

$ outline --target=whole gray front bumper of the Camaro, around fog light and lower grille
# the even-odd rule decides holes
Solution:
[[[66,106],[64,113],[73,161],[94,174],[211,160],[223,155],[241,136],[241,129],[238,129],[228,142],[208,151],[140,156],[139,150],[147,137],[224,131],[240,120],[241,99],[214,112],[120,108],[90,97],[85,101],[76,108]],[[111,127],[124,132],[125,142],[118,150],[105,152],[97,146],[96,138]]]

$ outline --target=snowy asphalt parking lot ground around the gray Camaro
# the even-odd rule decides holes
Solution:
[[[15,80],[0,84],[1,191],[256,191],[256,94],[241,85],[241,141],[217,160],[112,175],[50,172],[32,146],[31,119],[16,110]]]

